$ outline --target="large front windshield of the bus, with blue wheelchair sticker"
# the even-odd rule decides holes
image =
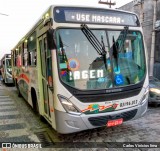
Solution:
[[[81,90],[108,89],[139,83],[146,72],[139,31],[92,29],[106,51],[106,61],[81,29],[56,31],[59,76]],[[106,63],[106,65],[105,65]]]

